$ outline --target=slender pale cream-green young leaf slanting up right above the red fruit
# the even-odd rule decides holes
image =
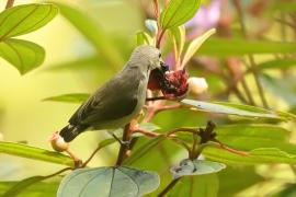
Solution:
[[[204,33],[203,35],[201,35],[200,37],[193,39],[190,45],[189,48],[184,55],[184,58],[182,60],[182,67],[184,67],[189,60],[194,56],[194,54],[197,51],[197,49],[202,46],[202,44],[213,34],[216,33],[215,28],[210,28],[209,31],[207,31],[206,33]]]

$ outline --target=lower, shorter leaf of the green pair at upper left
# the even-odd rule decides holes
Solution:
[[[24,74],[41,66],[45,51],[34,43],[10,38],[0,42],[0,56]]]

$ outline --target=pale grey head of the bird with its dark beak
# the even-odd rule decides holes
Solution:
[[[164,72],[168,69],[168,66],[161,59],[160,50],[148,45],[141,45],[135,48],[129,61],[133,62],[134,66],[140,67],[140,69],[147,71],[158,69]]]

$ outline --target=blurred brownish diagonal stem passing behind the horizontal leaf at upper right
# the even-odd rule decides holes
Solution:
[[[246,27],[246,24],[243,22],[243,13],[242,13],[240,1],[239,0],[232,0],[232,2],[234,2],[235,8],[237,9],[237,12],[238,12],[238,15],[239,15],[239,23],[240,23],[240,26],[241,26],[242,34],[243,34],[243,36],[246,38],[248,38],[247,27]],[[257,88],[258,88],[262,104],[263,104],[263,106],[265,108],[269,108],[269,104],[267,104],[267,101],[265,99],[263,88],[262,88],[262,85],[261,85],[261,83],[259,81],[259,74],[258,74],[254,57],[252,55],[248,55],[248,59],[249,59],[250,65],[251,65],[251,71],[253,73],[253,77],[254,77],[254,80],[255,80],[255,84],[257,84]]]

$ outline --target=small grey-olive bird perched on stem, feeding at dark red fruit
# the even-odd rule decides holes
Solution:
[[[71,116],[59,135],[66,142],[86,130],[124,127],[137,116],[146,101],[149,74],[162,70],[161,53],[152,46],[138,46],[117,74],[96,90]]]

